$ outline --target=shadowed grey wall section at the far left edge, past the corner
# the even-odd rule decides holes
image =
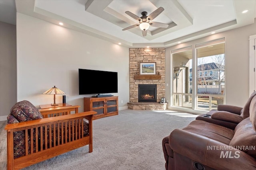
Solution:
[[[16,25],[0,22],[0,121],[17,101]]]

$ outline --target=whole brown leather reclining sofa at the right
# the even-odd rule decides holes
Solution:
[[[162,140],[166,170],[256,170],[256,92],[210,112]]]

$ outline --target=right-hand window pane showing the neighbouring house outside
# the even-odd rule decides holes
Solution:
[[[224,49],[224,39],[196,45],[198,71],[204,72],[202,77],[197,78],[197,109],[217,109],[218,104],[224,104]]]

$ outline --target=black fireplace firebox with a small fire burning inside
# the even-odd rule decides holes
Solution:
[[[156,84],[139,84],[138,102],[156,102]]]

